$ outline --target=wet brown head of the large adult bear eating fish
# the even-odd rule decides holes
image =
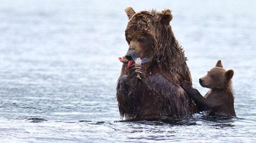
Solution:
[[[147,57],[153,60],[159,47],[157,46],[159,37],[162,36],[159,29],[170,27],[171,10],[164,9],[162,12],[156,12],[155,10],[140,11],[136,13],[131,7],[128,7],[125,12],[129,18],[125,30],[125,38],[129,48],[125,57],[131,60],[132,55],[136,55],[136,57]]]

